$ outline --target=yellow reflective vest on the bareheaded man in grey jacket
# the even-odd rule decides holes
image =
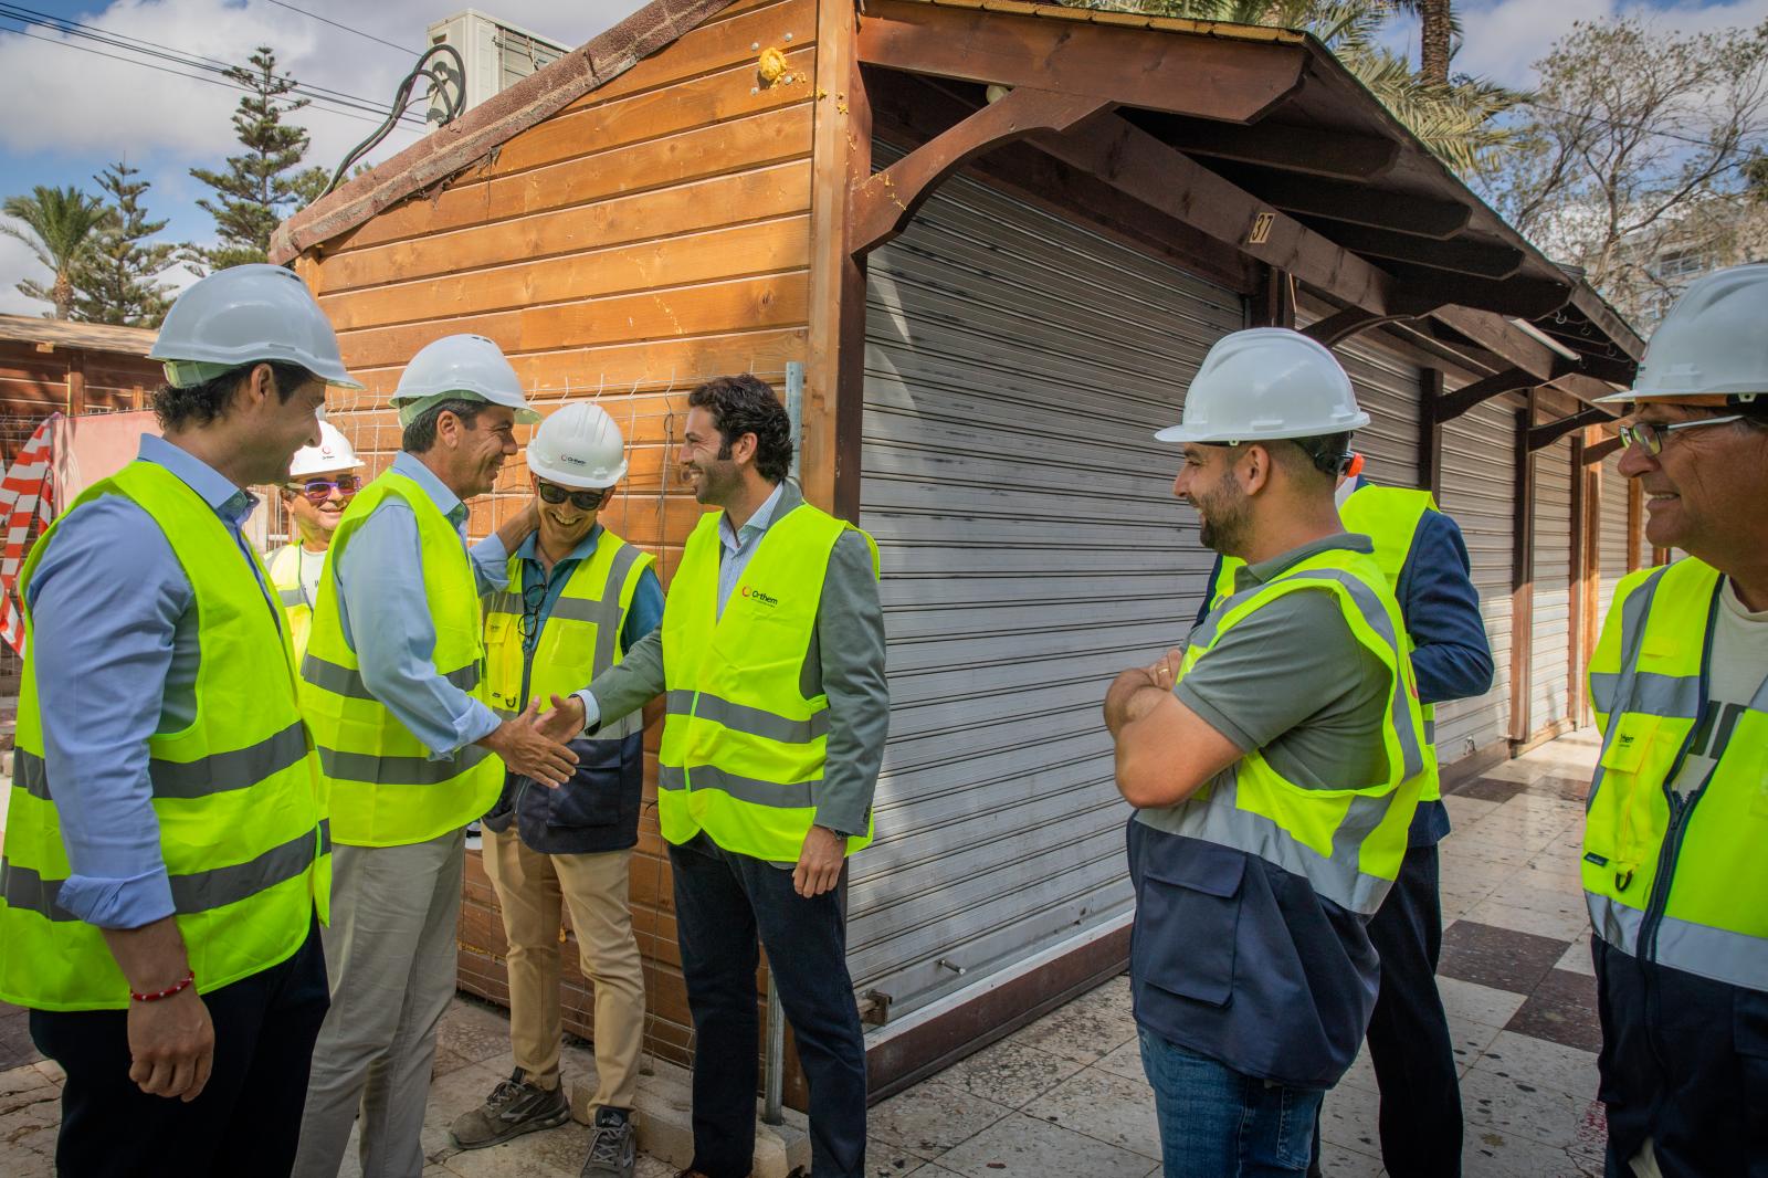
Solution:
[[[727,851],[792,861],[815,821],[829,732],[829,700],[806,697],[801,674],[849,524],[810,504],[778,516],[720,616],[721,518],[700,518],[663,607],[658,821],[674,844],[704,830]],[[875,573],[877,545],[866,543]],[[870,817],[847,853],[868,842]]]

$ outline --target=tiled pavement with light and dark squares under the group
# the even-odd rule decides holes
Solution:
[[[1595,1102],[1598,1031],[1577,877],[1582,794],[1595,736],[1577,732],[1490,769],[1450,799],[1443,844],[1443,964],[1462,1065],[1467,1178],[1602,1173]],[[19,1058],[28,1052],[28,1058]],[[0,1006],[0,1173],[50,1173],[58,1072],[32,1063],[23,1014]],[[7,1070],[11,1068],[11,1070]],[[430,1090],[426,1178],[571,1178],[587,1130],[569,1125],[458,1153],[447,1123],[509,1074],[504,1017],[458,1001],[444,1022]],[[566,1070],[594,1068],[582,1047]],[[1381,1174],[1376,1084],[1367,1058],[1326,1097],[1331,1178]],[[1158,1173],[1153,1102],[1114,978],[1010,1038],[872,1109],[873,1178],[1144,1178]],[[640,1178],[670,1169],[640,1159]],[[354,1174],[354,1166],[347,1166]]]

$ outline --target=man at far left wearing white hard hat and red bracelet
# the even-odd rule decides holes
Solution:
[[[288,1174],[325,1015],[329,837],[240,534],[359,389],[292,271],[216,271],[150,352],[164,437],[37,541],[0,856],[0,998],[67,1072],[57,1169]],[[7,1169],[0,1164],[0,1169]]]

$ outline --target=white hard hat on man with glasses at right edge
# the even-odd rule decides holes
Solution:
[[[1688,285],[1651,333],[1634,387],[1593,403],[1747,405],[1768,394],[1768,264],[1733,265]]]

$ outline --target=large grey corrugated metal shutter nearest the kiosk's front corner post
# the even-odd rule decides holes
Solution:
[[[1128,911],[1098,708],[1185,642],[1211,564],[1151,432],[1241,324],[1238,295],[967,179],[870,256],[891,738],[847,943],[893,1014]]]

